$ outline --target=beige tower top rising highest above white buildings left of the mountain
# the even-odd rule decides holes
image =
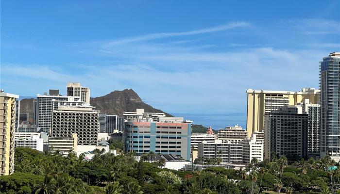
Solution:
[[[68,82],[67,96],[80,98],[80,101],[90,103],[90,89],[88,87],[81,86],[80,83]]]

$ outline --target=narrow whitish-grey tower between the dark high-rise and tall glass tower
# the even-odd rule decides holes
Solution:
[[[320,158],[321,105],[309,103],[309,99],[297,103],[302,113],[308,114],[308,158]]]

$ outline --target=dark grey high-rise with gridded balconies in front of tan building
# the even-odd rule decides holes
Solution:
[[[307,158],[308,115],[298,107],[284,106],[265,115],[264,158],[274,152],[288,159]]]

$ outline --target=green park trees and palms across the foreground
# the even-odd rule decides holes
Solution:
[[[119,146],[119,145],[118,145]],[[16,148],[15,173],[0,177],[1,194],[259,194],[336,193],[340,168],[329,157],[289,162],[285,156],[252,160],[244,169],[211,167],[174,171],[150,152],[136,162],[134,152],[114,156],[96,151],[67,157],[58,152]]]

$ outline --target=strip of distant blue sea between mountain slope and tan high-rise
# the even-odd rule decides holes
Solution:
[[[173,116],[192,120],[193,124],[211,126],[212,129],[224,129],[226,126],[239,125],[246,129],[246,113],[170,113]]]

